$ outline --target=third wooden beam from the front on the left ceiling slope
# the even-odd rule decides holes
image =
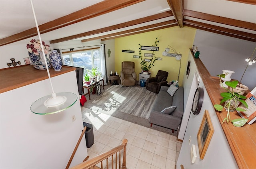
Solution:
[[[170,25],[170,24],[175,24],[175,23],[176,23],[176,20],[170,20],[170,21],[161,22],[158,24],[142,26],[140,28],[129,29],[126,31],[120,31],[120,32],[116,32],[116,33],[110,33],[108,35],[102,35],[102,36],[92,37],[92,38],[88,38],[88,39],[83,39],[83,40],[81,40],[81,42],[87,42],[87,41],[92,41],[92,40],[96,40],[96,39],[108,38],[108,37],[113,37],[113,36],[117,36],[117,35],[124,35],[124,34],[131,33],[131,32],[141,31],[141,30],[145,30],[145,29],[150,29],[150,28],[155,28],[155,27],[160,27],[160,26]]]

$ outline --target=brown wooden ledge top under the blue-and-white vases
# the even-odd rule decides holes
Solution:
[[[54,71],[53,68],[49,69],[51,77],[74,70],[76,70],[76,68],[68,66],[62,66],[61,71]],[[30,85],[45,79],[48,79],[47,71],[35,69],[32,65],[21,65],[0,69],[0,93]]]

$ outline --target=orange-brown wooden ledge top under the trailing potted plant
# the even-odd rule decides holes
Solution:
[[[211,77],[199,58],[194,58],[194,61],[211,99],[212,105],[220,104],[220,101],[222,100],[220,93],[226,92],[226,90],[219,85],[219,78]],[[245,124],[243,127],[235,127],[231,123],[222,124],[223,119],[227,116],[226,110],[222,110],[221,112],[216,111],[216,115],[222,126],[223,132],[226,135],[226,139],[228,140],[238,167],[240,169],[256,168],[256,122],[251,125]],[[230,112],[230,118],[236,119],[241,117],[235,111]]]

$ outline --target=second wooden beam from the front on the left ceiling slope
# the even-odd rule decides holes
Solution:
[[[105,28],[100,28],[100,29],[96,29],[96,30],[93,30],[93,31],[80,33],[80,34],[77,34],[77,35],[63,37],[63,38],[60,38],[60,39],[54,39],[54,40],[51,40],[50,43],[59,43],[59,42],[62,42],[62,41],[68,41],[68,40],[72,40],[72,39],[86,37],[86,36],[89,36],[89,35],[95,35],[95,34],[98,34],[98,33],[112,31],[112,30],[116,30],[116,29],[120,29],[120,28],[125,28],[125,27],[128,27],[128,26],[137,25],[137,24],[142,24],[142,23],[145,23],[145,22],[150,22],[150,21],[154,21],[154,20],[158,20],[158,19],[162,19],[162,18],[166,18],[166,17],[170,17],[170,16],[173,16],[171,11],[162,12],[160,14],[155,14],[155,15],[147,16],[147,17],[140,18],[140,19],[137,19],[137,20],[124,22],[122,24],[108,26],[108,27],[105,27]]]

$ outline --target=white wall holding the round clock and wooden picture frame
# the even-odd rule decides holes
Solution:
[[[190,57],[191,58],[191,57]],[[190,67],[196,67],[194,60],[190,60]],[[194,69],[195,70],[195,69]],[[194,77],[195,71],[190,69],[190,76]],[[184,86],[184,91],[189,91],[188,89],[192,85],[192,81],[187,81],[186,86]],[[201,111],[198,115],[190,114],[188,125],[186,127],[186,133],[183,139],[182,147],[177,161],[177,168],[180,168],[180,165],[184,165],[186,169],[234,169],[238,168],[226,136],[222,130],[221,124],[216,116],[215,110],[212,106],[212,102],[208,96],[208,93],[205,89],[204,83],[202,80],[199,82],[199,86],[204,89],[204,100],[202,104]],[[191,87],[192,88],[192,87]],[[193,89],[194,90],[194,89]],[[192,91],[192,89],[191,89]],[[194,90],[195,92],[195,90]],[[192,105],[192,100],[194,97],[194,92],[190,92],[188,102]],[[184,94],[185,96],[185,94]],[[188,105],[189,103],[187,103]],[[191,110],[191,107],[190,107]],[[208,110],[210,118],[214,127],[214,133],[204,159],[200,159],[199,149],[198,149],[198,140],[197,133],[204,115],[204,111]],[[186,114],[186,116],[189,116]],[[184,117],[183,117],[184,119]],[[182,122],[183,123],[183,122]],[[191,143],[189,144],[188,140],[192,137]],[[192,144],[196,145],[197,156],[196,162],[191,163],[190,149]]]

